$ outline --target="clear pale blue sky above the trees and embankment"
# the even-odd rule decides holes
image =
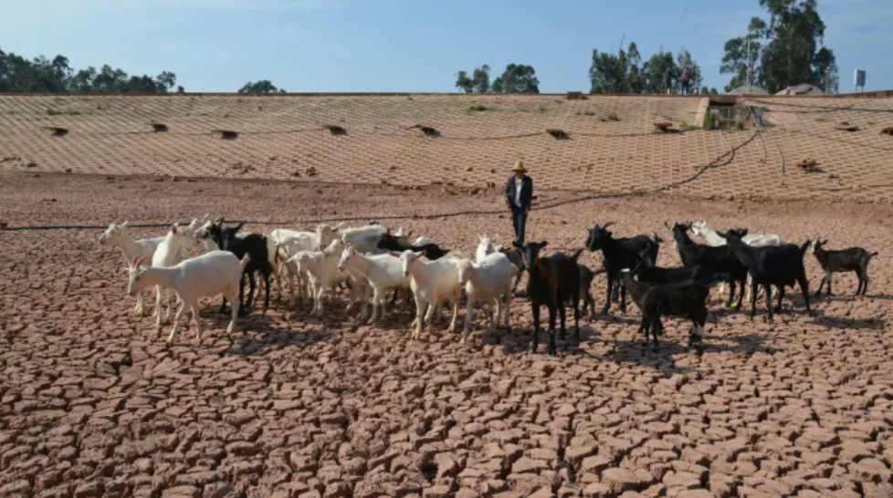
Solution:
[[[541,92],[589,90],[593,48],[688,48],[721,88],[722,46],[758,0],[0,0],[0,47],[74,67],[171,70],[187,91],[267,78],[296,92],[451,92],[460,69],[536,68]],[[841,91],[893,89],[893,1],[819,0]]]

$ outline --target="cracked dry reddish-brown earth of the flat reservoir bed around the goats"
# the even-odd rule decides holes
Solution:
[[[0,178],[10,226],[502,207],[496,192],[447,188]],[[541,202],[570,197],[542,192]],[[714,291],[702,358],[685,352],[688,324],[672,318],[659,351],[642,351],[635,306],[583,320],[581,343],[560,341],[557,358],[543,344],[527,355],[522,297],[513,331],[482,335],[478,313],[468,345],[444,331],[408,341],[407,312],[358,326],[341,297],[321,321],[305,317],[309,305],[276,302],[227,335],[215,298],[204,301],[200,344],[190,327],[164,348],[152,318],[132,314],[123,258],[99,247],[100,231],[0,232],[0,495],[890,496],[891,212],[638,198],[531,215],[531,238],[553,248],[579,247],[596,221],[670,240],[663,222],[707,219],[881,252],[868,296],[853,298],[855,277],[838,275],[839,294],[815,301],[815,316],[789,292],[774,324],[763,303],[749,321],[721,310]],[[383,223],[468,253],[479,233],[510,235],[497,215]],[[678,265],[673,244],[659,259]],[[806,267],[817,285],[811,255]],[[601,306],[604,279],[593,293]]]

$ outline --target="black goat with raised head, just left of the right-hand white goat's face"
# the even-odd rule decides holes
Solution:
[[[747,267],[741,263],[730,245],[714,247],[696,243],[688,236],[691,223],[673,223],[673,226],[667,225],[667,228],[673,232],[682,265],[703,266],[713,274],[726,276],[728,278],[726,282],[729,284],[729,300],[726,306],[740,308],[744,299],[744,285],[747,283]],[[739,286],[738,304],[733,305],[736,283]]]

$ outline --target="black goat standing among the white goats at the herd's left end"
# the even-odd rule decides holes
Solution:
[[[224,219],[218,218],[208,227],[207,236],[211,237],[223,251],[236,254],[240,260],[248,254],[248,262],[242,269],[242,275],[248,277],[248,298],[245,299],[245,280],[240,279],[238,285],[239,315],[246,315],[254,305],[254,293],[257,288],[254,274],[260,272],[264,278],[264,313],[269,309],[269,277],[273,274],[273,265],[269,264],[267,236],[260,233],[236,233],[245,223],[236,226],[223,226]],[[233,306],[236,306],[233,303]],[[226,297],[220,305],[222,313],[226,308]]]

